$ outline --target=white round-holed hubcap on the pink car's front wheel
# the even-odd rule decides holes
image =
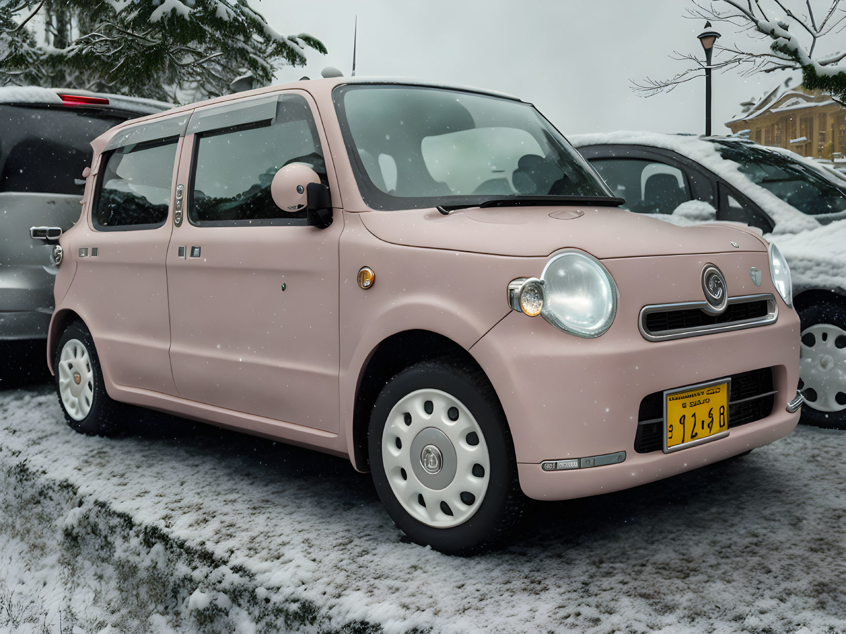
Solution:
[[[426,526],[459,526],[479,510],[490,480],[485,436],[454,396],[418,390],[393,406],[382,432],[393,495]]]

